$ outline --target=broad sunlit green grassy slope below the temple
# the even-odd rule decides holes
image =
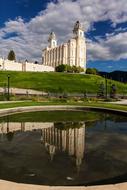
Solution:
[[[97,93],[99,84],[105,79],[96,75],[41,73],[41,72],[14,72],[0,71],[0,86],[7,84],[7,75],[10,74],[10,87],[34,89],[45,92],[70,93]],[[116,84],[118,93],[127,93],[127,84],[108,80],[108,89]]]

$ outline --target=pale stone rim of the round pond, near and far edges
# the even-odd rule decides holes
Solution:
[[[85,109],[106,111],[117,114],[124,114],[127,116],[127,111],[115,110],[110,108],[92,107],[92,106],[68,106],[68,105],[53,105],[53,106],[28,106],[16,107],[0,110],[0,117],[15,113],[32,112],[32,111],[55,111],[55,110],[70,110],[83,111]],[[119,183],[113,185],[97,185],[97,186],[44,186],[44,185],[29,185],[20,184],[9,181],[0,180],[0,190],[127,190],[127,183]]]

